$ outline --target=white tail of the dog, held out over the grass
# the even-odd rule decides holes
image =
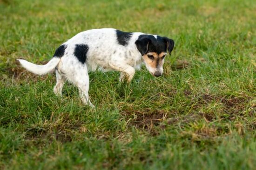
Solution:
[[[24,59],[18,59],[20,64],[26,68],[28,71],[33,72],[34,74],[43,75],[47,72],[51,72],[60,62],[61,58],[54,57],[46,65],[36,65],[30,63]]]

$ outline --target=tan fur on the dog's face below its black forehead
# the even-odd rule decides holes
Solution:
[[[159,55],[156,52],[148,52],[147,54],[143,55],[143,59],[146,65],[150,66],[153,69],[157,69],[159,67],[162,67],[163,65],[162,57],[166,54],[167,54],[166,52],[161,52]],[[148,55],[152,55],[154,59],[149,59]]]

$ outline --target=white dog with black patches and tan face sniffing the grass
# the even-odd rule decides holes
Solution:
[[[55,69],[54,93],[61,95],[65,80],[74,83],[86,105],[89,100],[89,71],[119,71],[120,81],[130,82],[144,63],[153,76],[161,76],[165,56],[172,52],[174,40],[146,33],[128,33],[114,28],[87,30],[76,34],[57,48],[46,65],[35,65],[24,59],[20,64],[34,74],[43,75]],[[168,53],[167,53],[168,52]]]

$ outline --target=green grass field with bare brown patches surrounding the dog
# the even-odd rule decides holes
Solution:
[[[253,0],[0,0],[0,169],[255,169],[255,11]],[[92,72],[94,110],[15,62],[44,63],[101,27],[174,39],[163,76],[142,68],[126,85]]]

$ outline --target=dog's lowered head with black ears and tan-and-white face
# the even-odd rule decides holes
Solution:
[[[162,75],[164,58],[167,52],[170,54],[174,47],[174,41],[167,37],[140,35],[135,41],[137,49],[141,52],[142,58],[148,71],[156,77]]]

